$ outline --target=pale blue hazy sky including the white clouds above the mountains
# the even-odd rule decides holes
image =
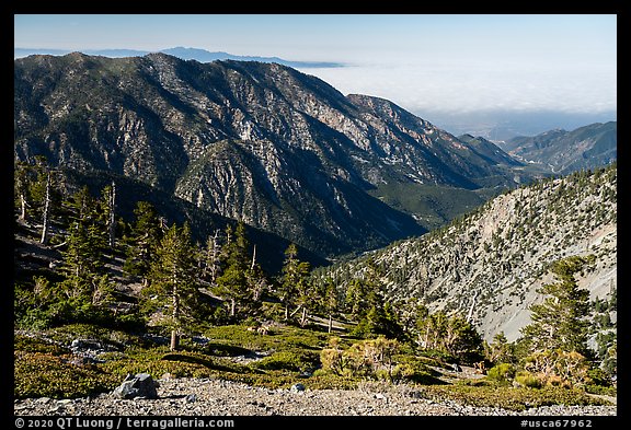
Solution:
[[[302,71],[416,114],[617,108],[613,14],[26,14],[14,15],[14,46],[340,61]]]

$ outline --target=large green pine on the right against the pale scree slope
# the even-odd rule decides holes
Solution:
[[[587,258],[574,256],[553,264],[558,282],[539,289],[548,297],[543,303],[530,306],[532,323],[521,329],[531,352],[559,349],[588,353],[585,316],[589,312],[589,292],[580,289],[574,278],[587,263]]]

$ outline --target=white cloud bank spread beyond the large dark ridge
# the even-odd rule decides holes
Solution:
[[[344,94],[388,98],[414,112],[617,109],[616,72],[592,65],[546,70],[497,65],[357,65],[302,69]]]

